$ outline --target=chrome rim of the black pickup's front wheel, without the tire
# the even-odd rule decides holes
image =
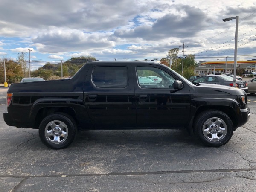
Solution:
[[[227,124],[218,117],[207,119],[203,125],[204,137],[212,142],[222,140],[227,134]]]

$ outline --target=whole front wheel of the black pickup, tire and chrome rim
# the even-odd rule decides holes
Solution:
[[[197,140],[209,147],[225,145],[232,137],[234,127],[230,117],[219,110],[200,113],[193,126]]]

